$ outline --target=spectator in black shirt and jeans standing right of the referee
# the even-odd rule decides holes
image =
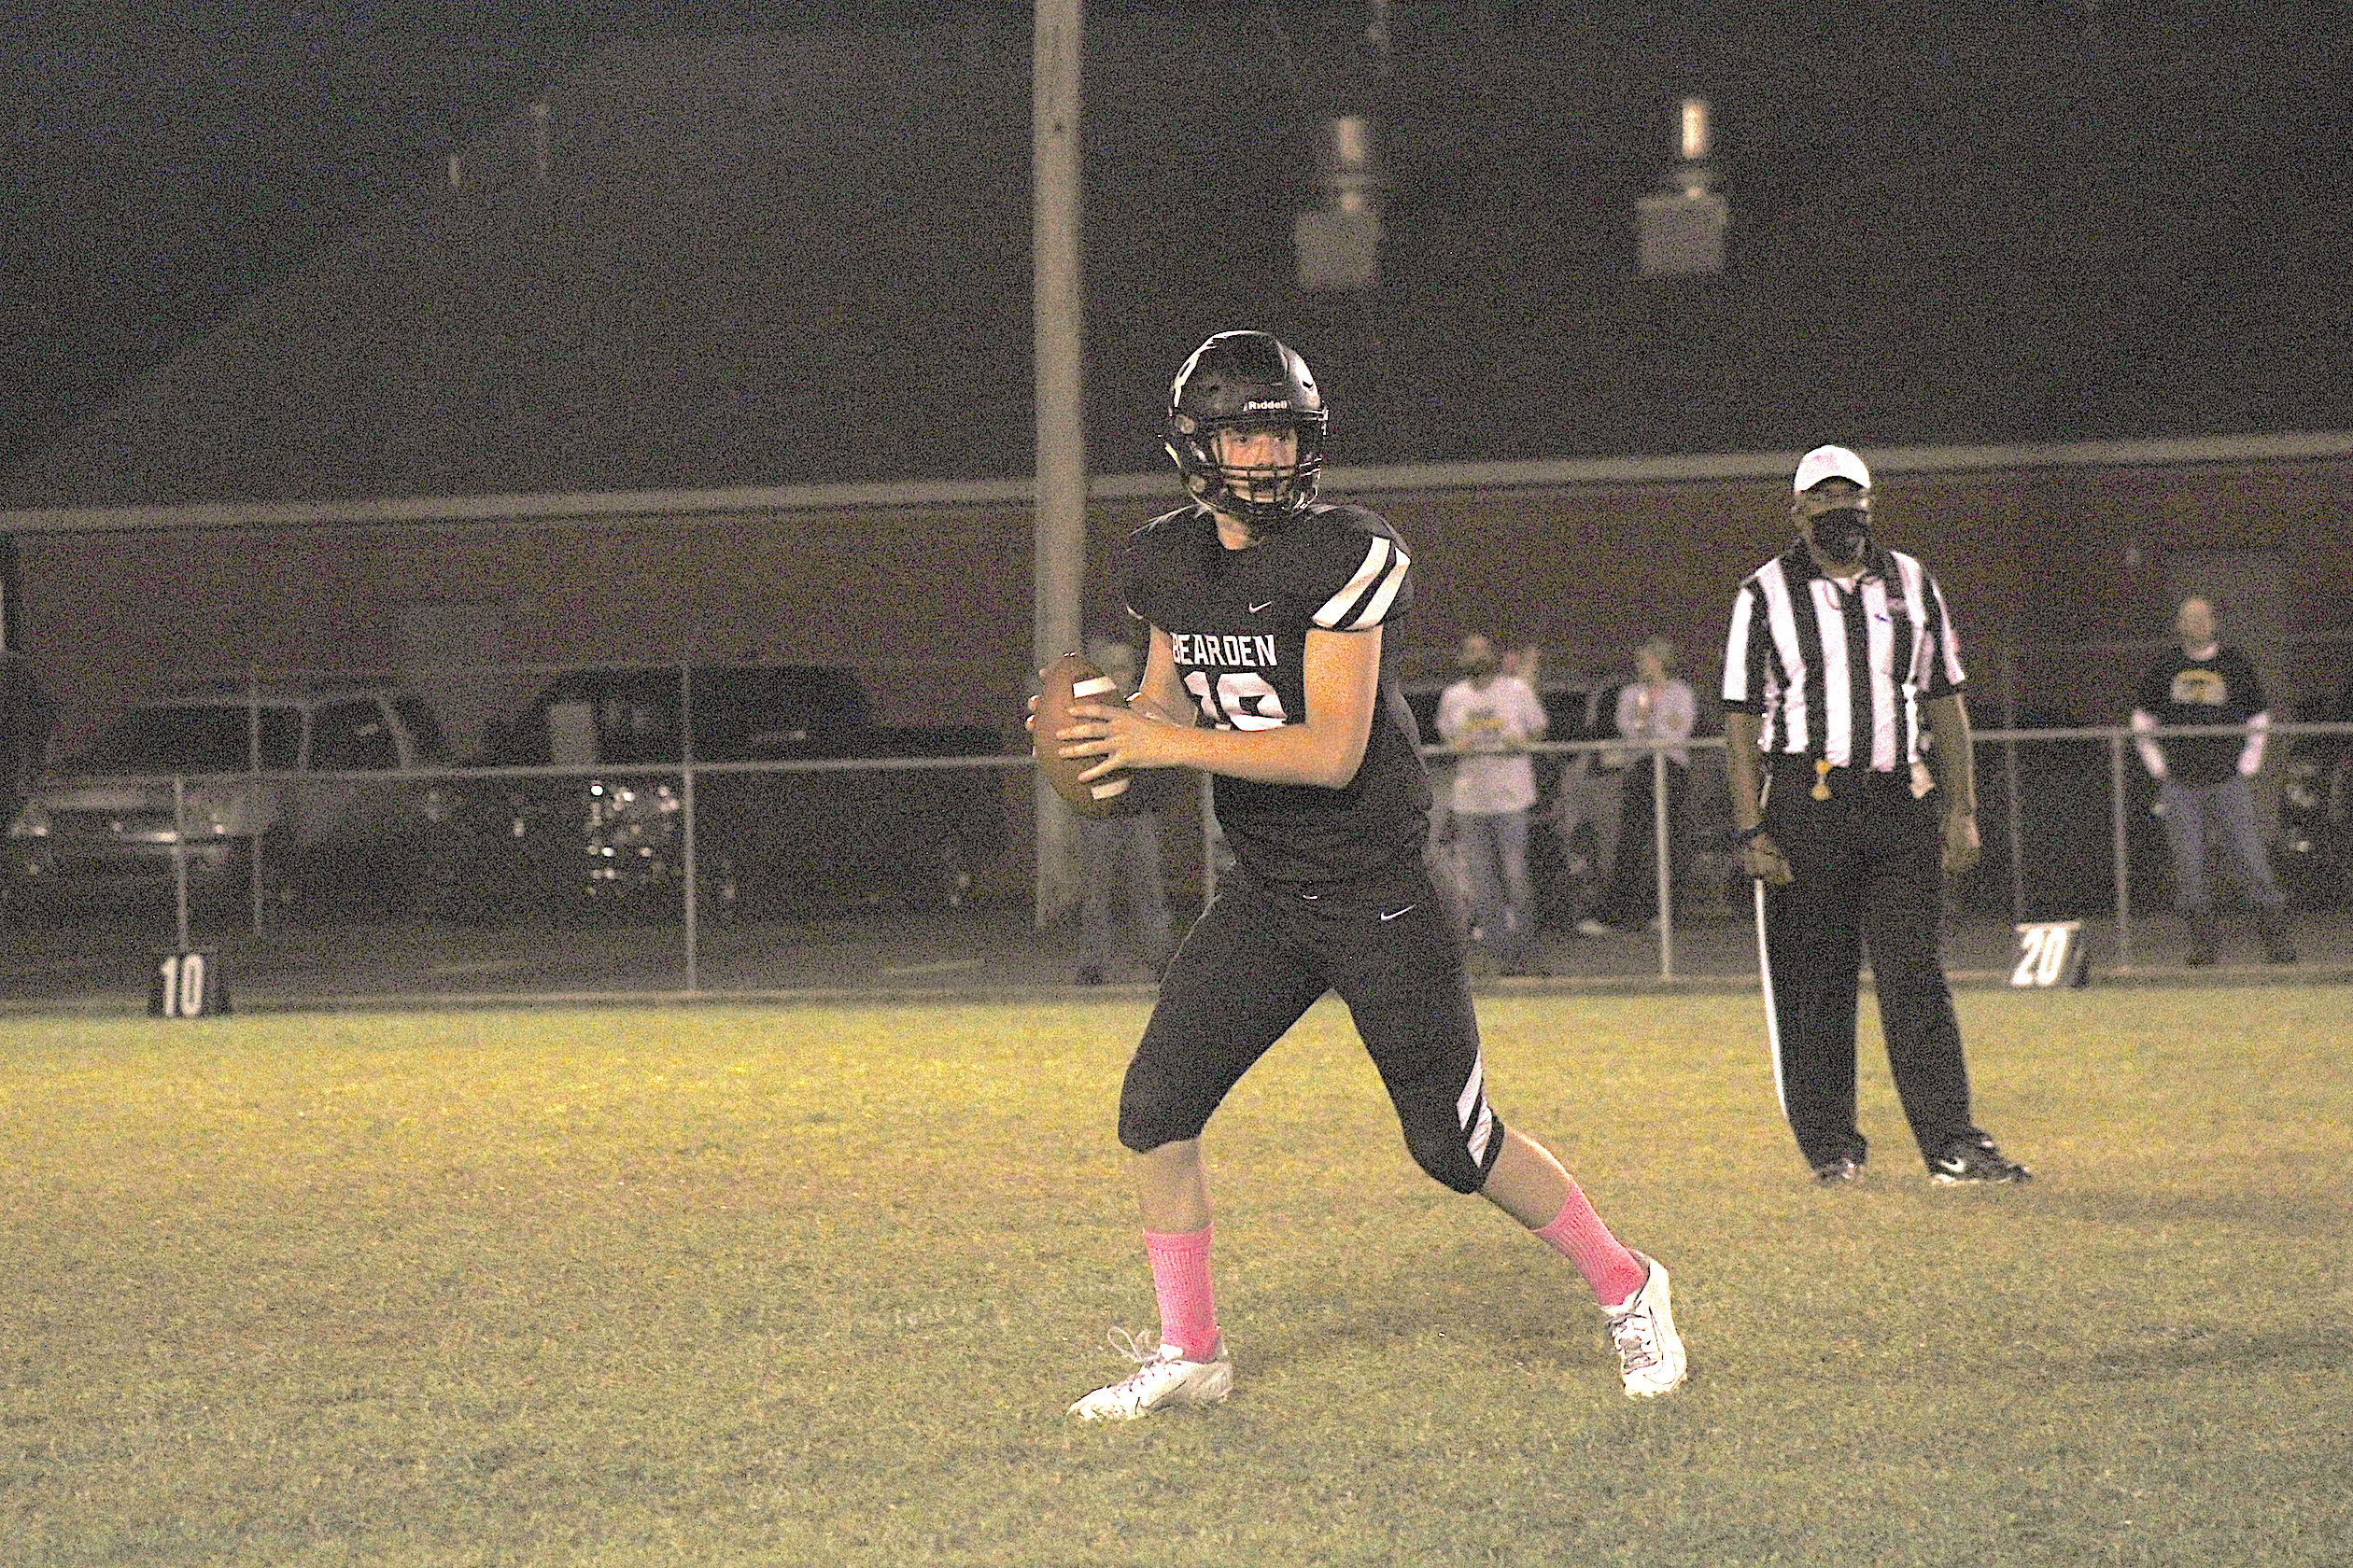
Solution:
[[[2254,792],[2247,788],[2264,766],[2264,741],[2271,733],[2264,682],[2245,654],[2217,637],[2212,602],[2195,595],[2181,599],[2174,632],[2181,646],[2148,665],[2148,675],[2141,677],[2132,738],[2148,776],[2158,780],[2158,816],[2174,851],[2174,912],[2191,929],[2186,961],[2212,964],[2219,947],[2214,893],[2205,870],[2207,827],[2214,827],[2231,863],[2231,879],[2254,905],[2264,961],[2294,964],[2287,900],[2271,879],[2264,835],[2254,820]],[[2198,724],[2238,724],[2245,733],[2165,738],[2155,733]]]

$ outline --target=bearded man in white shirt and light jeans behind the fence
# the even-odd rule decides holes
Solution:
[[[1454,846],[1471,898],[1471,926],[1506,976],[1537,973],[1537,893],[1527,879],[1527,809],[1537,771],[1527,743],[1541,741],[1544,703],[1518,675],[1504,675],[1494,644],[1478,632],[1454,654],[1464,679],[1438,693],[1438,733],[1454,762]]]

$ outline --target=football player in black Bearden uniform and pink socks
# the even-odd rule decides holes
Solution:
[[[1348,1004],[1414,1161],[1577,1265],[1626,1392],[1671,1392],[1685,1352],[1666,1269],[1619,1244],[1560,1161],[1487,1103],[1461,943],[1424,863],[1419,729],[1391,670],[1412,557],[1377,512],[1315,501],[1322,395],[1264,331],[1193,350],[1169,393],[1167,454],[1193,501],[1127,541],[1120,576],[1151,625],[1141,689],[1127,705],[1075,705],[1054,738],[1064,757],[1099,759],[1085,778],[1212,773],[1238,867],[1169,964],[1120,1088],[1158,1345],[1127,1340],[1136,1368],[1071,1413],[1134,1420],[1233,1387],[1200,1135],[1327,990]]]

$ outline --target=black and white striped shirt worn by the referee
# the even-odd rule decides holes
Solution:
[[[1901,550],[1873,545],[1861,576],[1840,583],[1798,541],[1732,602],[1725,708],[1762,717],[1767,757],[1908,771],[1927,738],[1920,703],[1962,679],[1944,590]]]

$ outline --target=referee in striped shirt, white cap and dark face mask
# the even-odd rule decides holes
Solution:
[[[1904,1119],[1934,1180],[2024,1182],[1969,1124],[1944,980],[1944,877],[1977,865],[1977,780],[1944,592],[1871,541],[1871,470],[1798,463],[1798,538],[1741,583],[1725,644],[1732,842],[1758,879],[1774,1088],[1824,1185],[1864,1173],[1854,1016],[1864,952]],[[1929,764],[1934,762],[1934,771]]]

